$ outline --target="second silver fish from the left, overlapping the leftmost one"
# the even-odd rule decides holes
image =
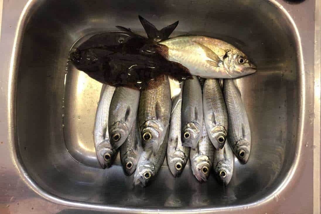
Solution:
[[[110,143],[119,148],[126,140],[135,122],[139,90],[117,87],[109,108],[108,128]]]

